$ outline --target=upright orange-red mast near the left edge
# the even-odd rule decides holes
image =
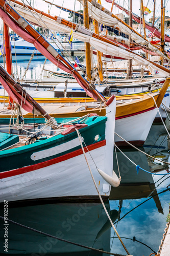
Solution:
[[[12,55],[11,55],[11,47],[10,47],[10,37],[9,37],[9,28],[6,23],[4,23],[4,41],[5,41],[5,55],[6,55],[6,66],[7,72],[12,75]],[[11,110],[13,99],[9,95],[9,106],[7,109]]]

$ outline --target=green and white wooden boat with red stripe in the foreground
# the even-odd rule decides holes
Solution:
[[[22,138],[27,133],[32,133],[32,129],[33,135],[40,135],[41,131],[43,135],[48,134],[38,140],[37,136],[31,136],[32,140],[36,139],[33,144],[29,144],[28,136],[21,143],[18,135],[0,134],[0,202],[4,202],[4,199],[20,201],[46,198],[98,198],[81,149],[83,143],[86,145],[85,151],[90,152],[87,154],[87,159],[96,183],[100,184],[100,194],[107,199],[110,194],[110,184],[115,186],[119,184],[118,178],[114,180],[115,184],[112,179],[115,99],[112,98],[110,104],[108,102],[106,117],[86,116],[78,120],[61,118],[57,120],[58,123],[62,123],[59,133],[56,130],[50,132],[50,126],[59,129],[56,120],[42,110],[28,94],[26,95],[26,92],[2,67],[0,69],[0,80],[4,87],[9,87],[9,92],[12,91],[10,95],[14,100],[27,111],[35,113],[38,110],[48,120],[44,129],[42,127],[44,119],[39,119],[39,129],[36,132],[35,123],[32,123],[31,119],[26,122],[27,127],[18,124],[17,129],[22,133]],[[23,124],[22,118],[20,121]],[[66,126],[64,126],[65,121]],[[76,129],[80,130],[80,135]],[[49,134],[53,136],[50,137]],[[25,142],[26,145],[23,144]],[[109,177],[110,184],[106,182],[109,181]]]

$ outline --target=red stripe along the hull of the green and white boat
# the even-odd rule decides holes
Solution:
[[[105,146],[105,145],[106,145],[106,140],[102,140],[102,141],[96,142],[95,144],[91,144],[91,145],[87,146],[87,148],[88,148],[89,151],[91,151],[91,150],[95,150],[96,148],[99,148],[99,147],[102,147],[102,146]],[[87,148],[84,147],[85,152],[87,152]],[[41,162],[41,163],[29,165],[29,166],[14,169],[14,170],[8,170],[6,172],[0,173],[0,179],[12,177],[12,176],[23,174],[23,173],[32,172],[33,170],[37,170],[37,169],[40,169],[40,168],[43,168],[43,167],[47,167],[47,166],[50,166],[52,164],[65,161],[65,160],[68,160],[70,158],[82,155],[82,154],[83,154],[83,151],[82,151],[82,148],[81,148],[80,150],[70,152],[68,154],[65,154],[63,156],[60,156],[60,157],[57,157],[57,158],[54,158],[54,159],[51,159],[51,160],[47,160],[47,161],[44,161],[44,162]]]

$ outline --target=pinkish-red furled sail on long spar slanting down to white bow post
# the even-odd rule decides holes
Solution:
[[[68,63],[28,22],[23,19],[11,6],[4,0],[0,2],[0,15],[4,22],[20,37],[31,42],[39,52],[48,60],[65,72],[72,74],[85,92],[95,100],[104,100],[97,90],[90,88],[89,82],[83,78],[79,72]],[[12,17],[11,17],[12,16]],[[15,19],[14,19],[15,18]]]

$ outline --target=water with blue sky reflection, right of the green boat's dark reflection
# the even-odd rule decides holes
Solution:
[[[169,162],[168,137],[162,125],[153,125],[143,151],[157,159]],[[141,149],[141,148],[140,148]],[[133,162],[145,170],[166,174],[167,164],[151,160],[136,150],[124,150]],[[112,188],[110,208],[118,210],[118,221],[114,224],[129,252],[134,255],[150,255],[157,252],[164,228],[168,203],[170,202],[170,175],[151,175],[136,167],[120,152],[117,152],[121,185]],[[149,163],[149,164],[148,164]],[[152,164],[151,164],[152,163]],[[165,168],[165,169],[164,169]],[[114,158],[114,170],[118,167]],[[111,252],[123,253],[114,231],[111,229]]]

